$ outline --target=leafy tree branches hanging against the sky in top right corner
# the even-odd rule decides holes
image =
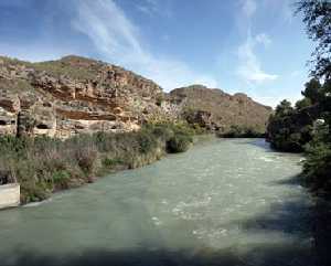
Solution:
[[[297,12],[303,14],[309,39],[317,42],[312,53],[314,64],[311,74],[318,78],[331,78],[331,1],[299,0]]]

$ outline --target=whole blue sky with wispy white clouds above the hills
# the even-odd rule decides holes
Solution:
[[[78,54],[164,91],[204,84],[275,106],[300,98],[313,44],[292,0],[1,0],[0,54]]]

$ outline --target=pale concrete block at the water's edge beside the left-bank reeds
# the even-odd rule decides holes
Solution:
[[[0,185],[0,210],[20,205],[20,184]]]

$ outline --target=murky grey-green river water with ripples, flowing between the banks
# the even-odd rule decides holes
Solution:
[[[314,265],[300,156],[209,139],[0,212],[0,265]]]

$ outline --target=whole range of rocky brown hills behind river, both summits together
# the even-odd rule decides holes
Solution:
[[[246,95],[203,86],[164,94],[150,79],[78,56],[30,63],[0,56],[0,134],[68,138],[130,131],[146,121],[185,118],[212,130],[265,130],[271,108]]]

